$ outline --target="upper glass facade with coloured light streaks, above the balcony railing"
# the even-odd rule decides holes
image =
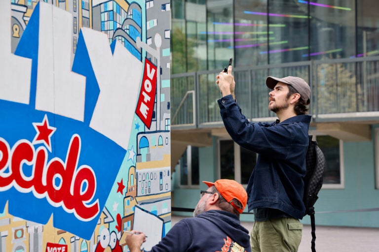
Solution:
[[[172,0],[172,73],[379,55],[376,0]]]

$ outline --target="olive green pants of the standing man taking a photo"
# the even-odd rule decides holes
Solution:
[[[297,252],[303,223],[294,218],[254,221],[250,233],[252,252]]]

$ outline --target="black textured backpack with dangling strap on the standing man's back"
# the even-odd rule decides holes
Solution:
[[[322,153],[317,142],[312,140],[312,135],[309,135],[309,146],[305,157],[306,174],[304,177],[304,196],[305,215],[310,216],[310,224],[312,228],[312,252],[316,252],[316,228],[314,224],[314,203],[318,199],[318,192],[322,187],[323,173],[326,166],[325,156]],[[304,216],[305,216],[304,215]]]

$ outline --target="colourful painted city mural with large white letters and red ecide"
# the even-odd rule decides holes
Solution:
[[[0,252],[171,227],[170,1],[0,1]]]

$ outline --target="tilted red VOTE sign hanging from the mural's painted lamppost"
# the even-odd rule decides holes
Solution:
[[[156,66],[148,59],[145,59],[144,77],[138,98],[136,114],[142,122],[150,128],[152,124],[152,112],[154,110],[156,90]]]

